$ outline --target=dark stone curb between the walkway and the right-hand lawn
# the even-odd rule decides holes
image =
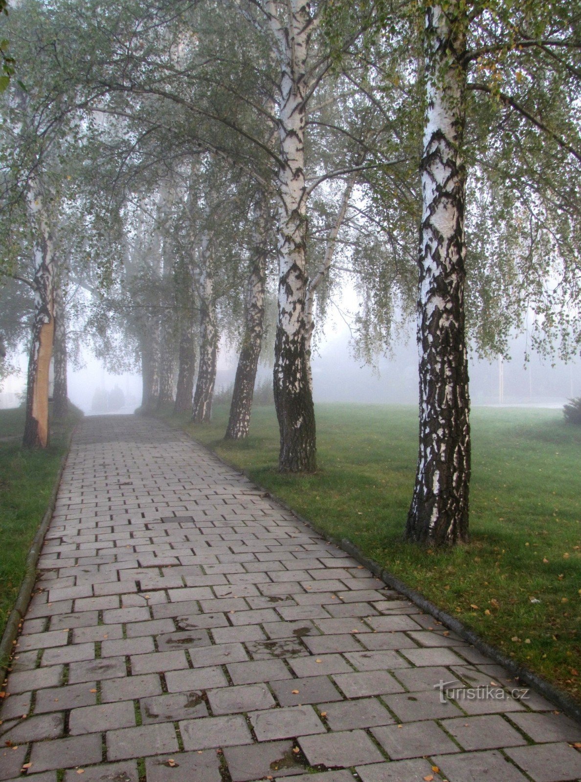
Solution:
[[[159,418],[157,420],[163,421],[163,419]],[[169,427],[167,422],[163,422],[166,426],[168,426],[168,428],[173,428]],[[192,440],[194,443],[196,443],[197,446],[204,448],[204,450],[207,450],[210,454],[212,454],[213,457],[218,459],[218,461],[222,462],[222,465],[225,465],[229,469],[236,470],[236,472],[240,472],[241,475],[244,475],[254,484],[254,486],[258,488],[258,490],[267,494],[269,497],[272,497],[273,500],[276,500],[281,508],[284,508],[285,511],[292,513],[294,518],[297,518],[299,522],[309,527],[309,529],[312,529],[324,540],[327,540],[327,543],[333,543],[335,546],[337,546],[337,548],[345,551],[346,554],[349,554],[353,559],[358,561],[359,565],[363,565],[363,567],[373,573],[373,576],[377,576],[377,578],[381,579],[388,587],[397,590],[404,597],[407,597],[408,600],[416,604],[418,608],[421,608],[422,611],[433,616],[438,620],[438,622],[442,622],[442,624],[446,625],[449,630],[453,630],[454,633],[467,641],[468,644],[471,644],[476,649],[478,649],[478,651],[481,651],[483,655],[491,658],[493,662],[496,662],[497,665],[502,665],[503,668],[506,668],[508,673],[511,673],[515,679],[519,679],[521,682],[528,684],[529,687],[532,687],[533,690],[543,695],[543,698],[547,698],[547,701],[550,701],[555,706],[557,706],[561,712],[564,712],[567,716],[575,719],[576,722],[581,723],[581,705],[570,698],[568,694],[559,690],[558,687],[555,687],[554,684],[551,684],[546,679],[543,679],[543,676],[539,676],[529,668],[525,668],[524,665],[518,665],[518,663],[514,662],[514,660],[512,660],[510,657],[504,655],[502,651],[494,646],[491,646],[491,644],[480,637],[478,633],[475,633],[474,630],[471,630],[469,627],[464,625],[464,623],[460,622],[459,619],[456,619],[455,616],[449,614],[446,611],[443,611],[442,608],[438,608],[435,603],[432,603],[430,600],[428,600],[427,597],[424,597],[423,594],[420,594],[411,587],[408,587],[406,583],[400,581],[388,570],[382,568],[381,565],[378,565],[376,561],[366,557],[366,555],[363,554],[363,551],[361,551],[359,547],[355,546],[355,543],[352,543],[351,540],[348,540],[347,538],[335,538],[334,536],[326,533],[323,529],[319,529],[316,524],[310,522],[308,519],[298,514],[297,511],[295,511],[294,508],[290,508],[290,506],[287,505],[284,500],[281,500],[280,497],[276,497],[276,494],[273,494],[269,489],[265,489],[265,487],[256,482],[254,478],[251,478],[251,476],[248,475],[247,470],[240,469],[239,467],[236,467],[236,465],[230,464],[229,461],[226,461],[226,459],[223,459],[221,456],[216,454],[216,452],[210,447],[204,445],[204,443],[200,443],[199,440],[191,436],[189,432],[186,432],[186,430],[182,429],[181,426],[176,428],[179,428],[180,431],[186,435],[189,440]]]

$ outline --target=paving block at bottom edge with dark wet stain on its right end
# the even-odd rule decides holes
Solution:
[[[224,756],[233,782],[248,782],[275,775],[278,779],[304,770],[293,752],[292,741],[227,747]]]

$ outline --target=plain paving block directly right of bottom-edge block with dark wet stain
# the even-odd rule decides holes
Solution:
[[[324,736],[298,739],[311,766],[341,768],[378,763],[384,758],[364,730],[340,730]]]

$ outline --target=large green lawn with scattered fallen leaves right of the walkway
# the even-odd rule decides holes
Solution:
[[[242,444],[222,439],[226,407],[210,425],[168,421],[581,700],[581,429],[561,411],[475,408],[471,543],[422,551],[402,542],[415,407],[319,404],[316,413],[319,472],[306,477],[276,472],[272,408],[255,408]]]

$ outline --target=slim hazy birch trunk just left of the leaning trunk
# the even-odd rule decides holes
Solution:
[[[211,420],[212,396],[214,396],[216,380],[218,326],[214,296],[212,243],[211,232],[204,231],[200,254],[200,366],[196,392],[193,395],[192,411],[192,420],[196,424],[206,424]]]

